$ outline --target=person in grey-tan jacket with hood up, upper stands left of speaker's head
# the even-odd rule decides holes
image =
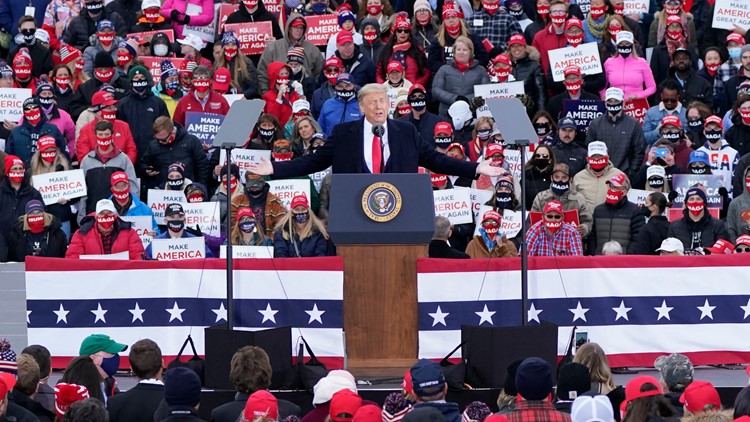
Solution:
[[[266,46],[258,62],[258,93],[265,94],[271,87],[268,65],[273,62],[285,62],[289,49],[302,47],[305,49],[305,59],[302,64],[308,75],[319,75],[323,70],[323,55],[310,41],[305,39],[307,22],[298,14],[289,16],[286,24],[286,36],[277,39]]]

